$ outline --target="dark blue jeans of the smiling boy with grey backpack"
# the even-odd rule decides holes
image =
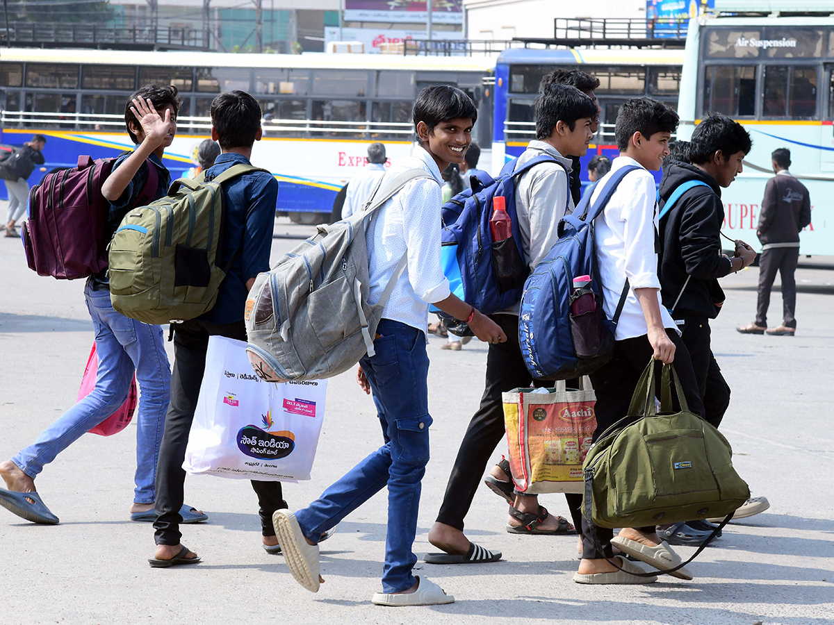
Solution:
[[[376,354],[360,361],[374,394],[385,444],[352,468],[309,507],[295,513],[314,542],[357,507],[388,486],[388,535],[382,573],[384,592],[402,592],[417,582],[411,551],[417,532],[420,480],[429,462],[429,357],[425,334],[383,319]]]

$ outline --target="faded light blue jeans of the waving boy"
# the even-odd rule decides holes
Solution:
[[[84,298],[96,333],[98,369],[93,392],[75,404],[12,461],[30,478],[43,471],[81,435],[103,422],[128,398],[133,373],[142,401],[136,416],[136,491],[133,501],[155,499],[159,444],[171,392],[171,368],[165,353],[162,328],[124,317],[113,310],[109,291],[93,291]]]

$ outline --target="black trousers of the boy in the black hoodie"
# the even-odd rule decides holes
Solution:
[[[710,345],[710,320],[706,317],[684,317],[681,338],[692,361],[698,392],[704,403],[704,418],[716,428],[730,406],[730,387],[716,363]],[[677,358],[675,359],[677,362]]]

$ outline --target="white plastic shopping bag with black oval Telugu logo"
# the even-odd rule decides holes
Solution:
[[[183,468],[222,478],[309,480],[327,381],[264,382],[245,348],[231,338],[208,339]]]

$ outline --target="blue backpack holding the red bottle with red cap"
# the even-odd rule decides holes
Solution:
[[[547,155],[530,159],[517,171],[518,158],[506,163],[498,178],[471,178],[472,188],[465,189],[443,205],[440,264],[449,279],[451,292],[481,313],[499,313],[518,303],[530,273],[521,249],[518,217],[515,212],[515,184],[521,174],[540,163],[556,163]],[[567,173],[567,170],[565,170]],[[493,242],[490,234],[492,198],[503,196],[512,220],[512,237]],[[448,318],[437,308],[431,312]],[[447,327],[461,336],[471,334],[465,323],[448,319]]]

